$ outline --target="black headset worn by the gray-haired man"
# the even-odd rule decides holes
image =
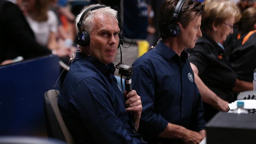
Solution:
[[[102,7],[106,7],[106,6],[93,6],[93,7],[89,7],[81,15],[79,22],[76,24],[76,26],[77,26],[77,28],[79,30],[79,32],[76,35],[76,43],[79,44],[80,46],[88,46],[89,43],[90,43],[90,35],[89,35],[89,33],[86,30],[82,31],[83,18],[85,17],[85,15],[89,11],[100,9]],[[119,11],[117,10],[117,12],[119,12]],[[117,20],[118,20],[118,26],[119,26],[119,29],[120,29],[120,33],[121,33],[121,31],[122,31],[122,21],[121,21],[121,17],[119,15],[119,13],[117,14]],[[120,33],[119,33],[118,48],[120,47],[120,44],[123,44],[123,37],[122,37],[122,35]]]

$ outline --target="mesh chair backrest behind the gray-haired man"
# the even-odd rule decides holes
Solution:
[[[74,144],[58,107],[58,90],[48,90],[44,95],[44,109],[48,137],[64,140],[67,144]]]

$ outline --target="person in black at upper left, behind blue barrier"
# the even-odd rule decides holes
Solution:
[[[51,54],[45,46],[38,44],[22,11],[16,4],[0,0],[0,65],[12,63],[22,56],[31,59]]]

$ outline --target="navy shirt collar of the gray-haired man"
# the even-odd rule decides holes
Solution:
[[[108,65],[105,65],[98,61],[97,59],[83,54],[82,52],[77,52],[76,53],[76,59],[83,59],[85,61],[88,61],[91,63],[95,68],[97,68],[103,75],[109,76],[110,74],[114,74],[115,72],[115,66],[113,63],[109,63]]]

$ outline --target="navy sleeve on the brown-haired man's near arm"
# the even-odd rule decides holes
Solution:
[[[154,73],[148,63],[133,64],[132,88],[141,96],[143,107],[139,131],[143,135],[156,137],[165,130],[168,122],[154,109]]]

